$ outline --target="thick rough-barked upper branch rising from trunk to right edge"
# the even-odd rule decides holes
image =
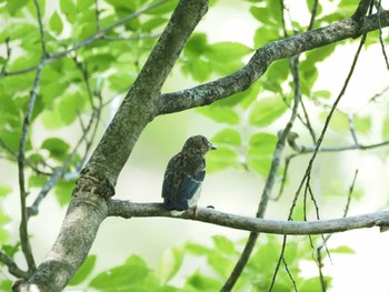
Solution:
[[[380,22],[378,17],[380,17]],[[362,20],[362,21],[360,21]],[[357,38],[380,27],[389,26],[389,11],[359,19],[348,18],[326,28],[307,31],[258,49],[239,71],[179,92],[166,93],[159,101],[159,113],[166,114],[210,104],[247,90],[277,60],[289,58],[349,38]]]

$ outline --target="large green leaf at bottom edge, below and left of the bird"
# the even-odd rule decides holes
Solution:
[[[138,255],[131,255],[123,265],[119,265],[98,274],[89,286],[101,292],[133,291],[129,290],[149,274],[144,261]]]

